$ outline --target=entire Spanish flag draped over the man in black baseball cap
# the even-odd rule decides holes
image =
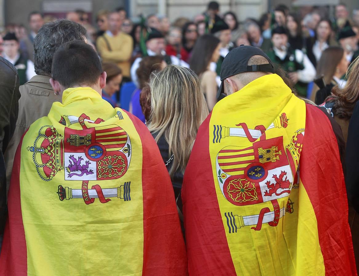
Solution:
[[[330,121],[276,74],[216,104],[182,201],[190,275],[356,275]]]

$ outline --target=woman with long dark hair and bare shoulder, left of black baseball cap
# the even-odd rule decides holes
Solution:
[[[195,44],[190,59],[190,68],[200,78],[202,92],[206,97],[208,109],[212,110],[217,102],[217,74],[210,70],[211,62],[219,58],[220,40],[213,35],[202,35]]]

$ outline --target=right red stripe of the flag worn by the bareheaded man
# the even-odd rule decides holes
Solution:
[[[143,151],[143,275],[186,275],[186,247],[171,179],[147,127],[125,112],[140,136]]]

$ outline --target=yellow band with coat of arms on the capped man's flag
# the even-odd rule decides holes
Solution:
[[[314,210],[303,185],[295,179],[299,168],[294,160],[299,161],[300,150],[293,157],[286,151],[301,149],[305,122],[304,101],[295,97],[276,74],[256,79],[219,101],[213,109],[210,126],[214,132],[212,135],[210,130],[209,151],[223,226],[237,275],[325,274]],[[251,142],[246,136],[234,136],[244,132],[241,123],[245,123],[252,134],[256,133],[256,126],[263,125],[265,137]],[[276,137],[283,137],[283,142],[270,140]],[[291,158],[295,163],[292,166]],[[251,164],[258,159],[256,170]],[[275,166],[275,162],[281,166],[267,170],[268,175],[258,184],[260,187],[255,184],[257,180],[249,178],[255,178],[257,172],[258,179],[264,177],[260,168]],[[280,176],[282,171],[286,175]],[[280,195],[265,196],[265,192],[270,192],[267,181],[278,188],[274,175],[279,183],[283,180],[281,187],[290,185],[275,191],[283,192]],[[285,192],[288,190],[290,192]],[[281,212],[277,224],[270,226],[264,218],[260,230],[252,229],[257,226],[261,211],[273,213],[277,203],[280,209],[286,210]],[[289,210],[292,213],[288,207],[293,207]],[[254,216],[252,223],[248,216]],[[313,244],[315,246],[311,246]]]

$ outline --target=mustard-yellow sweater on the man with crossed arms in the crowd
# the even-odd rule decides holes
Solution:
[[[108,49],[106,40],[111,47]],[[130,35],[123,32],[110,37],[104,33],[97,39],[96,47],[103,62],[113,62],[122,69],[124,77],[130,77],[130,58],[133,51],[133,40]]]

